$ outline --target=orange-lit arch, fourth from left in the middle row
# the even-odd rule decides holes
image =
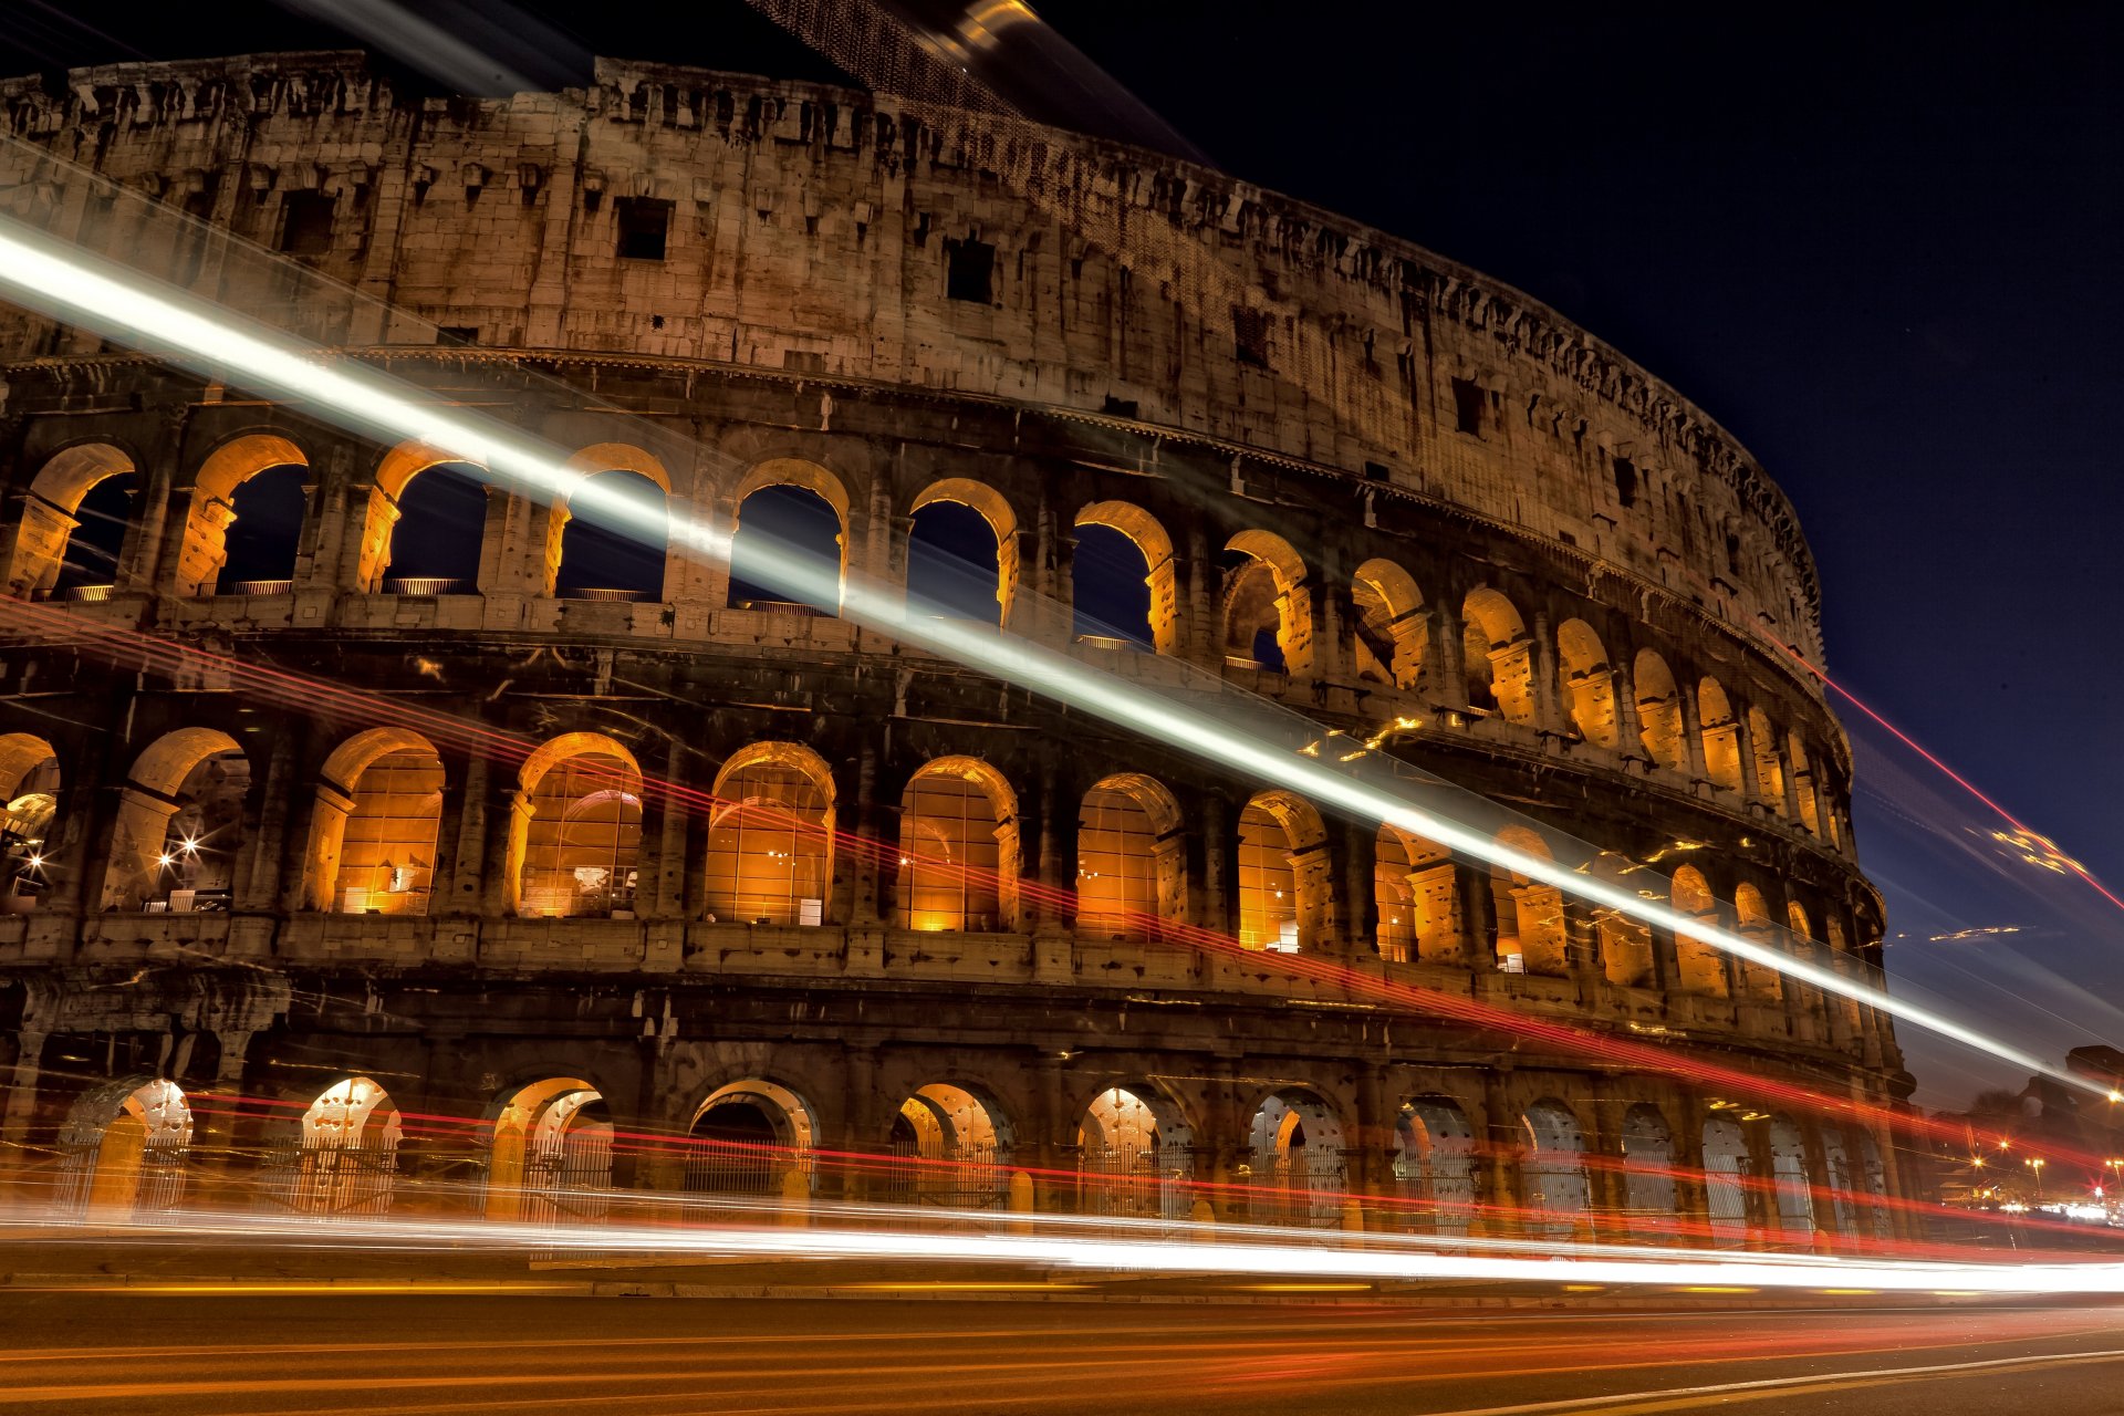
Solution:
[[[518,773],[510,873],[516,913],[633,919],[641,853],[641,769],[599,732],[567,732]]]

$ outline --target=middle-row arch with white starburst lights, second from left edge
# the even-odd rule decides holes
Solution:
[[[251,762],[215,728],[178,728],[142,752],[119,790],[104,909],[227,911]]]

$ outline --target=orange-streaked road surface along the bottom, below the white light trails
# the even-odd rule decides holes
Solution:
[[[998,1299],[8,1289],[0,1412],[2124,1412],[2124,1308]]]

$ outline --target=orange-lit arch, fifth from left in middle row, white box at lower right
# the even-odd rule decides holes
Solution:
[[[816,926],[833,887],[833,775],[809,747],[752,743],[716,775],[707,915]]]

